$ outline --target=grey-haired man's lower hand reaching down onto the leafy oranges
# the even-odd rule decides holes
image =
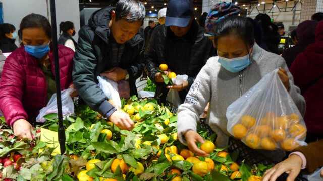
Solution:
[[[120,110],[115,111],[110,117],[109,120],[113,122],[120,129],[132,130],[134,127],[133,121],[130,119],[127,113],[124,113]]]

